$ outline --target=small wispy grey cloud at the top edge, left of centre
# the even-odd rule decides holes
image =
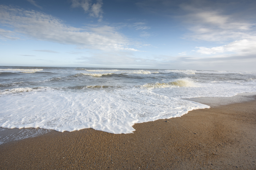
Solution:
[[[103,18],[103,1],[97,0],[92,4],[92,0],[72,0],[71,7],[82,7],[86,13],[89,13],[91,17],[99,18],[98,21],[102,21]]]

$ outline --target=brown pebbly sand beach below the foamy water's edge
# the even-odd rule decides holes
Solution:
[[[0,169],[256,169],[256,100],[135,124],[132,134],[51,131],[0,145]]]

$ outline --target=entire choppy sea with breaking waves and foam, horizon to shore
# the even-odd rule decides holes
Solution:
[[[255,72],[1,66],[0,127],[132,133],[209,108],[182,98],[243,92],[256,92]]]

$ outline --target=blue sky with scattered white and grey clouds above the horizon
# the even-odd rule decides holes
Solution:
[[[256,1],[1,0],[0,65],[256,71]]]

